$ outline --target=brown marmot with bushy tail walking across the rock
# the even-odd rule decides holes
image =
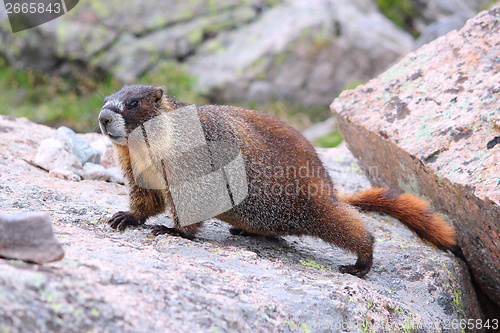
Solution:
[[[130,160],[129,135],[136,128],[142,127],[144,131],[145,122],[186,106],[158,86],[124,86],[104,99],[100,127],[114,144],[130,198],[130,210],[114,214],[110,220],[112,228],[124,230],[174,208],[168,188],[147,189],[137,185]],[[340,271],[358,277],[369,272],[374,245],[374,237],[358,209],[391,215],[442,250],[456,247],[453,227],[436,215],[426,201],[414,195],[386,188],[337,193],[313,146],[298,131],[274,117],[235,106],[195,108],[207,142],[230,138],[243,155],[248,195],[230,210],[215,216],[232,226],[232,234],[319,237],[357,255],[354,265],[342,266]],[[148,134],[155,135],[144,131],[144,135]],[[160,142],[162,139],[155,138]],[[174,228],[164,227],[161,231],[193,238],[202,222],[184,227],[175,215],[175,208],[173,214]]]

